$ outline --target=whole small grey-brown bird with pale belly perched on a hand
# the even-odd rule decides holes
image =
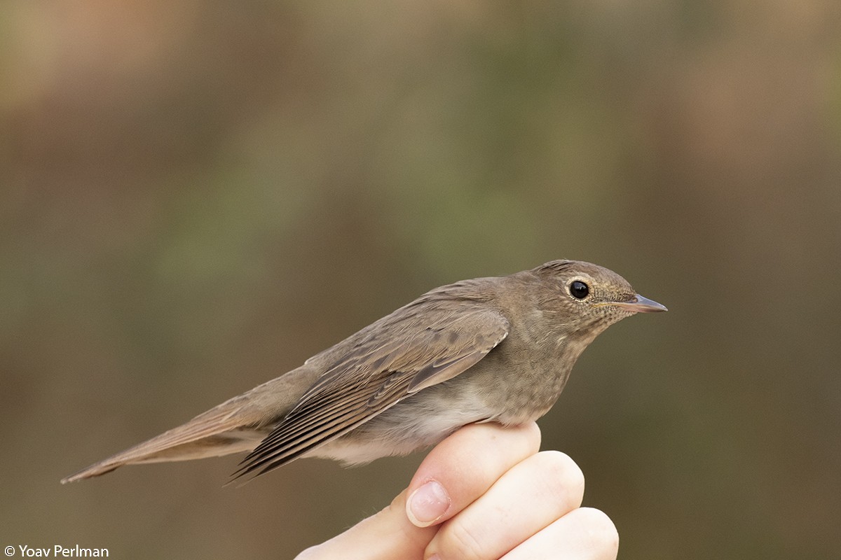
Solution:
[[[298,368],[61,483],[127,464],[230,453],[247,453],[231,474],[247,481],[297,458],[364,464],[430,447],[471,423],[535,421],[601,332],[653,311],[667,309],[583,261],[443,285]]]

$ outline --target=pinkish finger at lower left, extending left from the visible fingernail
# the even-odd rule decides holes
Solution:
[[[437,527],[420,528],[406,519],[406,491],[377,514],[341,535],[301,552],[295,560],[394,560],[420,558]]]

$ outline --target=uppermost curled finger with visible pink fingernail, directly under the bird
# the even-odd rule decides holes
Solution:
[[[421,463],[409,484],[406,516],[419,527],[447,521],[539,448],[540,429],[534,422],[463,427]]]

